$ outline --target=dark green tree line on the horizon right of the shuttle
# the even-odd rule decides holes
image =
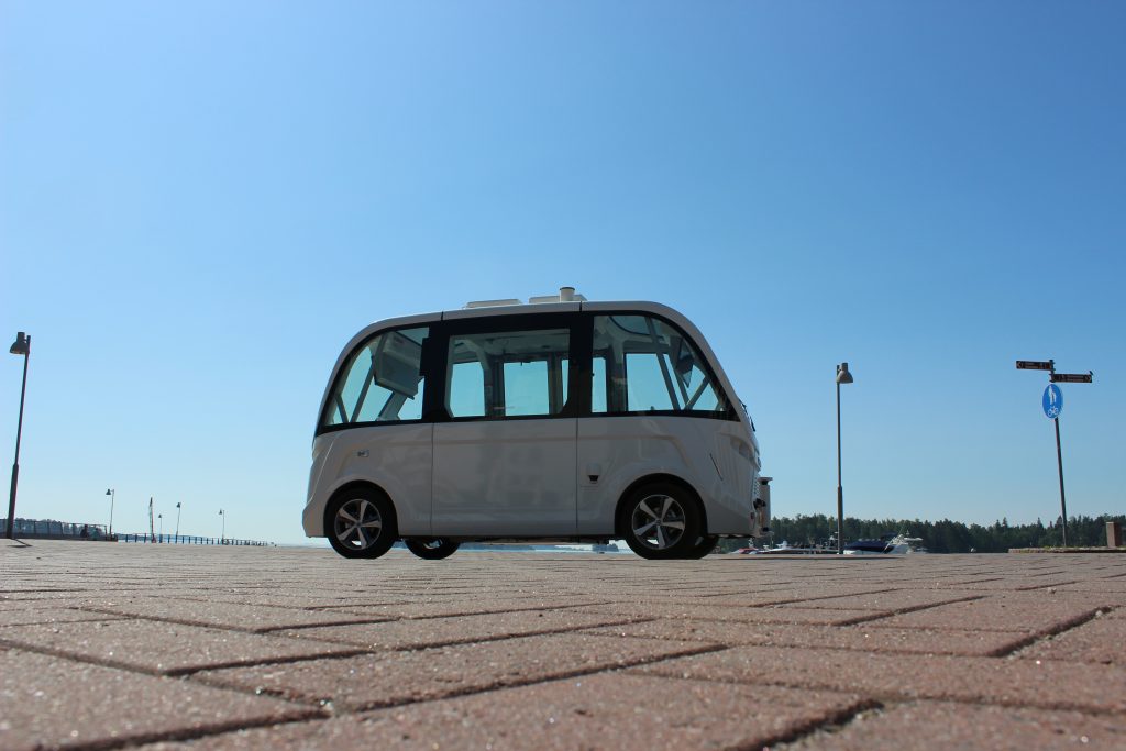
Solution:
[[[1126,526],[1126,515],[1098,517],[1067,517],[1069,546],[1102,546],[1107,544],[1107,522]],[[837,518],[823,513],[774,517],[770,524],[770,544],[788,542],[790,545],[830,545],[835,547]],[[1010,525],[1007,518],[990,526],[966,525],[960,521],[926,521],[922,519],[857,519],[844,518],[844,539],[877,538],[886,534],[904,534],[922,538],[921,545],[931,553],[1004,553],[1013,547],[1058,547],[1063,544],[1061,519],[1045,525]],[[832,543],[830,543],[832,538]],[[734,551],[747,546],[747,540],[721,540],[721,549]]]

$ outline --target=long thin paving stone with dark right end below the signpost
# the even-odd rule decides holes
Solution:
[[[660,618],[645,623],[590,628],[607,636],[640,636],[700,641],[729,646],[811,646],[861,652],[962,654],[990,656],[1024,646],[1027,635],[984,631],[928,631],[924,628],[869,628],[856,626],[774,625]]]

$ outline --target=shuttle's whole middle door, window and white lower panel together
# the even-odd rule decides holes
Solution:
[[[447,324],[435,536],[575,534],[572,328],[566,314]]]

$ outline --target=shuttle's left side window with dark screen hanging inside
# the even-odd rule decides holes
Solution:
[[[419,420],[422,417],[422,342],[429,329],[385,331],[345,364],[329,396],[323,426]]]

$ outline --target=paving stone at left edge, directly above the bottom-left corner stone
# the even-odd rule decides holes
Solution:
[[[0,642],[164,674],[355,652],[324,642],[143,619],[11,627],[0,629]]]

